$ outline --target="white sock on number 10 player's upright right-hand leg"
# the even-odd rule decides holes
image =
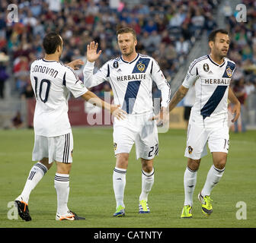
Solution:
[[[54,188],[57,193],[57,212],[61,215],[66,214],[69,210],[69,175],[56,173]]]

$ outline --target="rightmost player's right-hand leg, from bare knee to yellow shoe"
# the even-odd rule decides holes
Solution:
[[[218,184],[220,178],[225,170],[227,153],[223,152],[213,152],[213,166],[211,166],[206,182],[203,186],[203,190],[198,195],[198,199],[202,203],[202,212],[206,215],[213,213],[212,199],[210,198],[210,193],[213,188]]]

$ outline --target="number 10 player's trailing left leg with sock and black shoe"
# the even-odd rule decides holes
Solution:
[[[28,210],[28,200],[30,197],[31,191],[37,186],[39,181],[43,178],[43,175],[50,169],[53,163],[49,164],[48,158],[43,158],[39,162],[35,163],[34,166],[30,169],[30,173],[27,177],[26,184],[24,189],[15,199],[15,204],[18,208],[19,216],[25,221],[30,221],[30,213]]]

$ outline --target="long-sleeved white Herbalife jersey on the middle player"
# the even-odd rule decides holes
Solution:
[[[137,54],[132,62],[120,56],[106,62],[93,75],[94,62],[87,62],[84,68],[85,86],[90,88],[108,81],[114,93],[114,104],[128,114],[152,112],[152,80],[162,92],[161,106],[170,102],[171,89],[154,58]]]

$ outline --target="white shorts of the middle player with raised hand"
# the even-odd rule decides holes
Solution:
[[[114,122],[114,153],[130,153],[136,146],[136,159],[153,159],[158,155],[158,131],[152,112],[126,115],[126,119]]]

